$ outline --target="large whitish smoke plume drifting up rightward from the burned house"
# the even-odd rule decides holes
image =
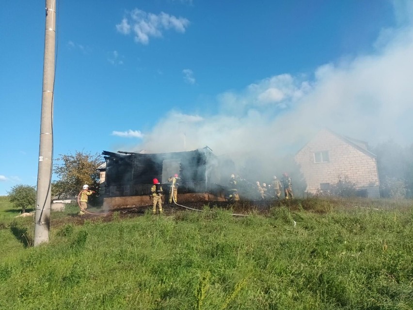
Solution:
[[[399,3],[399,2],[397,2]],[[365,140],[411,143],[413,123],[413,27],[396,15],[397,29],[384,29],[374,52],[320,65],[311,74],[288,73],[256,81],[216,97],[215,115],[170,111],[130,151],[176,152],[210,147],[238,164],[250,154],[265,163],[294,154],[318,130]]]

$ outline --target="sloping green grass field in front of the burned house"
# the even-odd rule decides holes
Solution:
[[[413,309],[412,207],[312,198],[82,225],[72,207],[37,247],[33,218],[1,218],[0,308]]]

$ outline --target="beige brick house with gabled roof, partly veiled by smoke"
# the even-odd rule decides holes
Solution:
[[[328,190],[338,176],[347,176],[357,183],[358,196],[380,197],[376,155],[367,150],[366,142],[322,130],[298,151],[295,160],[301,165],[308,193]]]

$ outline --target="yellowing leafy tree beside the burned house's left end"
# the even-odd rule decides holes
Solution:
[[[84,184],[98,193],[99,171],[96,168],[102,163],[99,154],[75,151],[75,154],[59,156],[58,163],[53,165],[59,179],[52,182],[52,196],[78,196]]]

